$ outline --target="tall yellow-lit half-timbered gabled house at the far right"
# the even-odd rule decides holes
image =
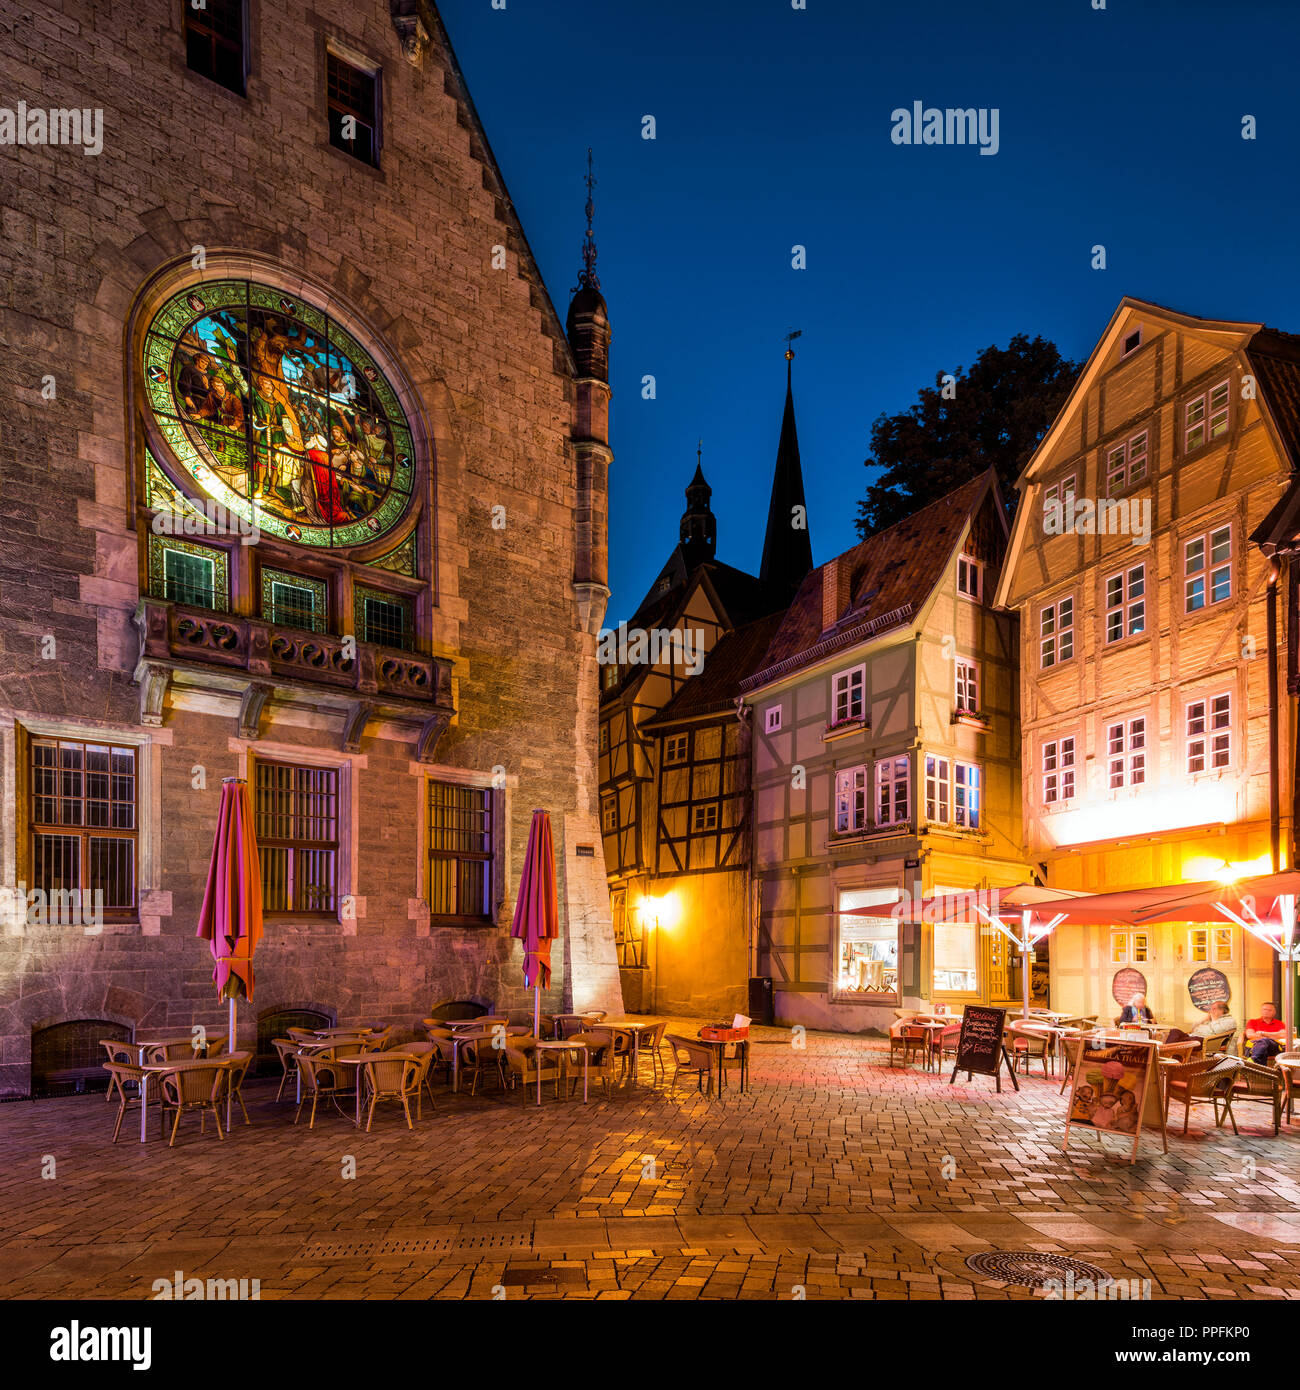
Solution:
[[[1300,339],[1126,299],[1027,464],[997,600],[1021,616],[1026,855],[1051,887],[1290,863],[1294,719],[1269,676],[1294,688],[1294,603],[1260,542],[1289,545],[1297,400]],[[1187,1026],[1199,976],[1244,1020],[1276,994],[1243,935],[1066,922],[1053,1004],[1107,1017],[1144,988]]]

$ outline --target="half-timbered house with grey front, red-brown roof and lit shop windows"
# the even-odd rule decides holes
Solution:
[[[883,1031],[895,1008],[1018,992],[1005,937],[894,912],[1030,877],[1018,624],[991,602],[1005,543],[983,474],[813,570],[742,682],[754,960],[779,1022]]]

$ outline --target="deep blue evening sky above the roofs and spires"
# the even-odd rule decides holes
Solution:
[[[719,557],[758,567],[790,327],[818,563],[856,539],[872,420],[990,342],[1082,360],[1123,295],[1300,331],[1297,0],[441,10],[562,318],[595,150],[608,621],[676,543],[699,436]],[[915,100],[997,107],[1000,153],[893,145]]]

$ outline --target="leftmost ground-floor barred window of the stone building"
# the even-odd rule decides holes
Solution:
[[[32,887],[65,906],[129,917],[136,903],[136,749],[33,738]],[[50,897],[79,894],[75,899]],[[96,895],[101,897],[96,897]],[[56,910],[57,909],[57,910]]]

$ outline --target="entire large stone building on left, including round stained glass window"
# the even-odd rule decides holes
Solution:
[[[224,1017],[227,777],[270,842],[249,1034],[523,1005],[534,806],[551,1004],[619,1009],[594,259],[564,325],[424,0],[25,24],[7,100],[103,139],[0,145],[0,1094],[51,1029]],[[185,499],[207,530],[160,528]]]

